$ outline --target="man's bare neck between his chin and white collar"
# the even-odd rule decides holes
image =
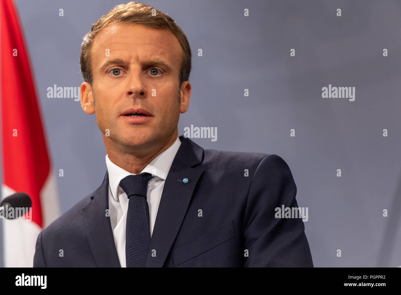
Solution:
[[[156,146],[153,150],[148,151],[145,155],[135,154],[124,149],[115,149],[115,146],[107,147],[107,156],[110,161],[122,169],[133,173],[140,174],[142,170],[152,162],[158,155],[166,151],[177,139],[178,130],[173,136],[161,146]]]

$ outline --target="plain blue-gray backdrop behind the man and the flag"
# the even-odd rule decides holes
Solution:
[[[47,87],[81,85],[82,37],[122,2],[15,1],[64,213],[101,184],[106,151],[95,116],[71,98],[47,98]],[[193,140],[205,149],[282,157],[298,205],[309,208],[306,236],[316,267],[401,265],[401,2],[146,4],[174,18],[192,49],[192,95],[179,135],[191,124],[217,127],[217,141]],[[322,98],[329,84],[355,87],[355,101]]]

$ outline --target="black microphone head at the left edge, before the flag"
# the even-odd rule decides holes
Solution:
[[[29,212],[32,207],[32,200],[30,197],[23,192],[14,193],[2,200],[0,203],[0,216],[4,216],[7,219],[15,219]],[[9,218],[7,212],[13,208],[15,214],[12,218]],[[24,208],[24,210],[22,210]],[[28,211],[25,212],[26,208]]]

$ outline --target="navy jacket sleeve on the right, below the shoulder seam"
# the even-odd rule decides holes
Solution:
[[[276,218],[275,208],[298,207],[297,187],[287,163],[267,155],[249,188],[243,222],[244,267],[313,267],[301,218]],[[306,211],[305,211],[306,212]],[[244,252],[245,253],[245,252]]]

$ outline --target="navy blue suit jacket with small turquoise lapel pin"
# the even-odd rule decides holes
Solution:
[[[147,267],[313,267],[302,219],[275,218],[276,207],[298,207],[281,157],[204,150],[180,140]],[[106,172],[100,187],[41,231],[34,267],[120,267],[106,216],[108,187]]]

